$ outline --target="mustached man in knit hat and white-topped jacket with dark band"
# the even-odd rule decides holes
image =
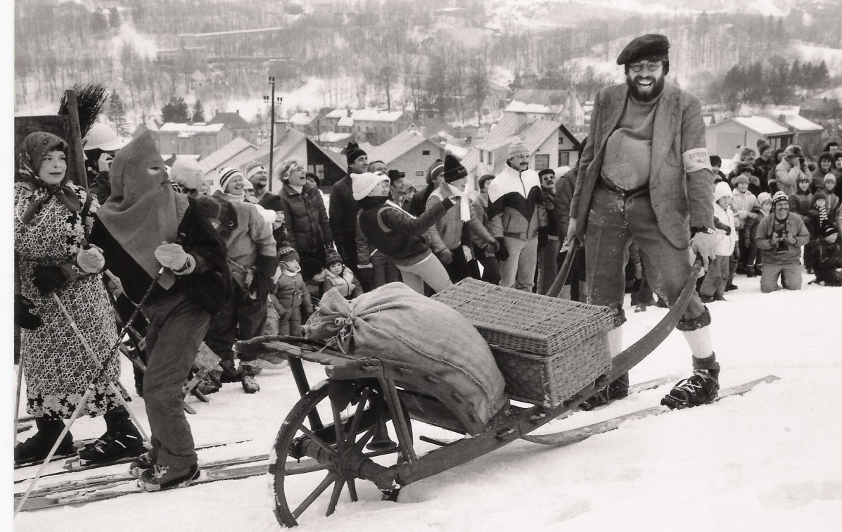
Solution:
[[[530,292],[538,263],[538,229],[547,226],[538,173],[520,140],[509,146],[506,168],[488,185],[488,231],[498,242],[500,286]]]

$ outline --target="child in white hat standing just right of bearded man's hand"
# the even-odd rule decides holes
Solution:
[[[699,289],[701,301],[725,301],[725,284],[728,279],[728,262],[737,242],[737,218],[730,209],[732,193],[726,182],[717,183],[713,192],[713,226],[716,227],[718,243],[717,258],[711,261],[705,280]]]

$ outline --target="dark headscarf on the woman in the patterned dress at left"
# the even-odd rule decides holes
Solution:
[[[38,172],[41,168],[41,163],[44,162],[44,157],[49,152],[56,150],[64,152],[67,155],[67,142],[60,137],[47,133],[46,131],[35,131],[30,133],[24,139],[24,144],[20,148],[19,169],[18,176],[15,181],[23,181],[28,184],[26,188],[31,190],[33,197],[39,195],[39,191],[45,191],[46,194],[40,198],[32,200],[31,203],[24,210],[20,221],[24,225],[29,225],[32,219],[38,214],[41,205],[50,201],[51,198],[56,198],[61,205],[67,207],[71,212],[79,212],[82,210],[82,203],[79,201],[79,196],[67,185],[67,172],[65,172],[64,179],[60,184],[46,184],[38,177]]]

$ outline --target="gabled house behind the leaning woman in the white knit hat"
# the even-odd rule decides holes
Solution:
[[[362,147],[362,145],[360,145]],[[365,147],[363,148],[365,150]],[[430,141],[416,129],[407,129],[393,136],[380,146],[367,151],[369,161],[380,160],[386,167],[407,174],[409,183],[416,189],[426,186],[424,175],[436,159],[445,158],[443,146]]]

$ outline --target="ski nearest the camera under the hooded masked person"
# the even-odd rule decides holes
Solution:
[[[268,455],[267,457],[268,458]],[[216,468],[203,469],[198,479],[190,482],[187,486],[198,486],[208,482],[236,480],[248,478],[249,476],[264,475],[269,471],[266,463],[252,464],[240,467],[219,466]],[[180,489],[173,487],[170,489]],[[115,497],[122,497],[131,493],[148,493],[137,486],[135,478],[119,483],[112,483],[105,487],[84,487],[78,490],[66,492],[54,492],[40,497],[29,497],[26,499],[21,511],[40,510],[45,508],[57,508],[67,505],[83,505],[95,501],[103,501]]]

